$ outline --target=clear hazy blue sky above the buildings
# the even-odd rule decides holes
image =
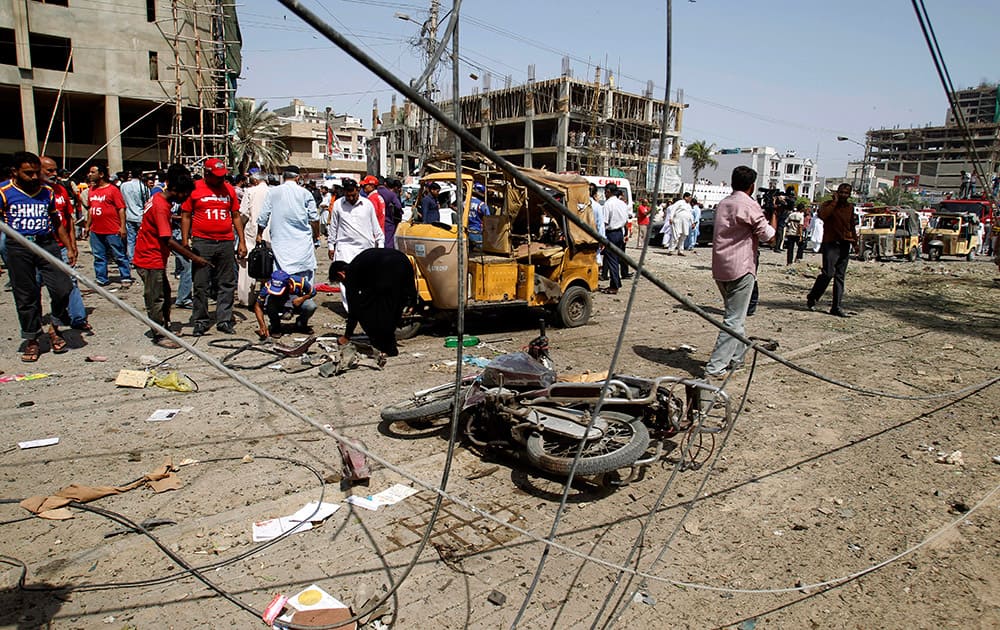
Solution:
[[[955,87],[1000,81],[996,0],[924,1]],[[416,41],[430,0],[302,2],[400,78],[422,72]],[[451,9],[451,0],[441,4],[442,14]],[[506,75],[523,84],[529,64],[537,80],[557,77],[569,55],[577,78],[593,80],[595,66],[610,67],[621,89],[642,93],[652,80],[662,98],[666,4],[464,0],[461,94],[481,87],[486,72],[493,89]],[[277,1],[245,0],[237,12],[239,96],[272,108],[298,97],[366,126],[374,99],[389,109],[391,88]],[[836,177],[863,153],[837,136],[863,143],[871,128],[944,123],[947,98],[906,0],[675,0],[672,32],[671,89],[683,90],[690,105],[685,143],[818,156],[819,174]],[[450,68],[440,76],[450,85]]]

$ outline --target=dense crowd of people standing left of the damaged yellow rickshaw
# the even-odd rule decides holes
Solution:
[[[398,353],[392,331],[402,311],[415,304],[415,289],[393,292],[392,300],[369,299],[372,291],[385,298],[387,283],[413,285],[409,260],[392,249],[391,235],[402,220],[398,180],[369,175],[360,183],[344,178],[336,187],[302,185],[299,169],[287,166],[281,183],[269,185],[260,169],[234,177],[216,158],[206,160],[201,170],[193,175],[175,164],[159,173],[112,175],[106,165],[93,163],[86,184],[77,186],[50,158],[19,152],[13,156],[10,179],[0,184],[0,219],[70,266],[79,256],[77,240],[89,239],[99,286],[117,281],[128,289],[137,275],[146,313],[157,324],[149,337],[165,348],[179,347],[162,330],[171,330],[174,308],[191,310],[193,336],[209,334],[213,327],[235,334],[237,302],[251,309],[262,339],[280,337],[286,330],[311,333],[315,250],[323,229],[334,262],[331,281],[341,284],[348,314],[341,343],[350,343],[360,324],[383,360]],[[251,277],[248,248],[265,245],[273,270],[266,278]],[[367,254],[369,250],[374,253]],[[60,328],[94,334],[83,294],[68,274],[16,238],[2,239],[0,253],[24,339],[22,361],[39,359],[46,333],[57,354],[67,349]],[[353,262],[362,253],[367,255],[355,269]],[[169,277],[171,256],[176,296]],[[117,277],[110,274],[111,263]],[[261,286],[255,287],[257,282]],[[42,287],[51,303],[47,331]],[[293,324],[283,321],[289,315]]]

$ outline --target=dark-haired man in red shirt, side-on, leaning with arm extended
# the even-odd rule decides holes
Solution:
[[[187,247],[173,239],[173,227],[170,225],[170,207],[175,203],[183,203],[194,190],[194,180],[191,172],[180,164],[174,164],[167,170],[167,181],[162,192],[149,198],[142,211],[142,223],[135,238],[136,272],[142,278],[145,287],[143,297],[146,302],[146,314],[149,318],[166,328],[170,326],[170,281],[167,280],[167,259],[170,252],[177,252],[196,265],[202,267],[207,260],[198,256]],[[153,343],[162,348],[178,348],[176,342],[168,339],[157,330],[151,330]]]

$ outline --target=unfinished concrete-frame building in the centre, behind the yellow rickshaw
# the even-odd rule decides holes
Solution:
[[[532,72],[529,72],[529,77]],[[553,172],[627,177],[633,189],[651,191],[664,102],[615,88],[609,76],[592,82],[563,76],[461,97],[461,123],[501,156],[519,166]],[[680,159],[683,106],[670,103],[665,148],[667,176]],[[451,102],[439,103],[446,112]],[[409,102],[374,116],[375,134],[385,138],[386,171],[413,174],[420,167],[420,114]],[[385,124],[379,125],[379,120]],[[436,133],[430,157],[451,150],[447,134]],[[679,178],[674,177],[679,185]],[[663,188],[661,186],[661,188]]]

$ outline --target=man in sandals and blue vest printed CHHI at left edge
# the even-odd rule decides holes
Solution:
[[[0,220],[57,259],[61,257],[59,241],[66,243],[69,264],[74,265],[76,241],[68,236],[72,227],[60,221],[52,188],[42,183],[41,160],[34,153],[19,151],[14,154],[13,164],[13,177],[0,183]],[[69,321],[69,294],[73,283],[54,264],[12,238],[7,239],[7,265],[21,338],[26,340],[21,360],[33,363],[41,354],[38,339],[42,336],[42,290],[38,278],[41,276],[49,290],[53,320],[61,322]],[[49,338],[53,353],[66,351],[66,341],[55,325]]]

